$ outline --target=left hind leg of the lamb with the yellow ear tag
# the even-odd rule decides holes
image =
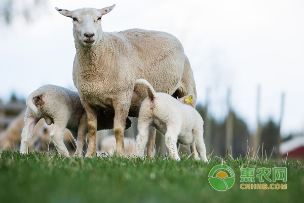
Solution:
[[[136,137],[136,156],[142,157],[144,147],[148,141],[149,123],[138,123],[138,135]]]

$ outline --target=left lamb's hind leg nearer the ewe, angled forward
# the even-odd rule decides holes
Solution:
[[[65,127],[66,125],[63,123],[58,124],[56,121],[54,121],[54,128],[50,133],[50,137],[59,154],[69,157],[69,152],[63,143],[63,131]]]

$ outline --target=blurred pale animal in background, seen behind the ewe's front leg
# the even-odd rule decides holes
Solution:
[[[136,144],[134,138],[124,138],[124,145],[126,149],[126,154],[133,156],[136,154]],[[116,139],[115,136],[106,136],[100,142],[101,151],[100,153],[105,153],[107,155],[113,155],[116,151]]]

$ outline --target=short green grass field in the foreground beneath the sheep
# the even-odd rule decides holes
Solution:
[[[234,170],[236,182],[219,192],[210,186],[208,174],[221,163],[219,158],[197,162],[187,155],[176,162],[164,157],[64,159],[56,153],[3,151],[0,202],[303,202],[303,163],[223,159]],[[241,167],[285,166],[287,189],[240,189]]]

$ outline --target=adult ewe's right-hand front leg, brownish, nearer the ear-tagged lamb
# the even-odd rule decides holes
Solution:
[[[124,146],[124,132],[126,127],[126,119],[129,113],[130,103],[120,103],[120,102],[121,101],[113,101],[113,108],[115,111],[114,136],[116,138],[117,153],[125,156],[126,150]]]

